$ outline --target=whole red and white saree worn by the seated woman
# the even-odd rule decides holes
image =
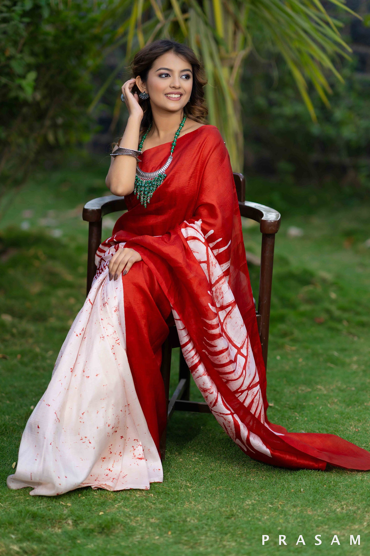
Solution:
[[[163,166],[170,145],[144,151],[141,169]],[[369,470],[367,450],[334,434],[288,433],[267,418],[266,369],[239,205],[219,130],[201,126],[179,137],[166,173],[146,209],[133,193],[126,197],[128,211],[100,245],[92,289],[62,346],[48,390],[26,425],[8,486],[33,486],[30,494],[53,495],[87,485],[149,488],[163,479],[158,454],[165,426],[163,381],[146,384],[140,377],[144,360],[137,345],[131,365],[128,361],[131,344],[138,340],[131,322],[125,322],[123,304],[128,291],[133,297],[141,292],[140,280],[136,290],[129,288],[130,273],[139,264],[155,279],[149,289],[162,296],[156,298],[162,308],[161,332],[152,346],[155,358],[170,310],[195,384],[246,455],[286,468],[323,470],[330,463]],[[109,282],[109,260],[120,247],[138,251],[143,261]],[[157,305],[143,307],[141,293],[137,299],[145,327]],[[156,373],[159,364],[156,360]]]

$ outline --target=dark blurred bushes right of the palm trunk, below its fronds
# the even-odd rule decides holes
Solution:
[[[340,180],[341,185],[370,186],[370,76],[354,62],[342,69],[344,83],[331,83],[330,107],[311,91],[313,122],[282,63],[278,79],[260,66],[245,68],[242,79],[246,160],[285,180]]]

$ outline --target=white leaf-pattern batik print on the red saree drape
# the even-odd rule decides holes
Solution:
[[[212,304],[209,303],[210,318],[202,319],[204,321],[203,351],[212,361],[227,388],[252,415],[264,423],[265,411],[259,374],[244,321],[227,280],[230,259],[223,263],[219,263],[216,259],[227,250],[230,242],[222,246],[222,237],[212,238],[214,230],[210,230],[204,235],[201,224],[201,219],[190,223],[185,221],[181,226],[181,233],[203,269],[210,286],[209,293],[212,298]],[[191,341],[189,332],[174,309],[173,314],[185,361],[212,414],[226,433],[246,453],[255,453],[257,450],[271,457],[270,450],[263,444],[260,437],[241,423],[238,416],[217,391],[214,381],[207,373],[200,355]]]

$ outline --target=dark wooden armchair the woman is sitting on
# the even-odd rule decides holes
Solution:
[[[275,245],[275,234],[280,227],[280,214],[269,207],[245,201],[245,178],[241,173],[234,172],[234,181],[239,200],[241,216],[245,216],[256,222],[260,222],[262,234],[261,242],[261,267],[259,301],[256,308],[257,324],[262,345],[262,354],[267,366],[268,328],[270,325],[270,302],[272,285],[273,248]],[[95,276],[95,252],[102,242],[102,219],[111,212],[126,210],[124,197],[109,195],[99,197],[86,203],[82,218],[89,222],[88,242],[88,268],[87,268],[87,294]],[[256,305],[256,302],[255,302]],[[164,380],[168,419],[174,411],[196,411],[210,413],[205,402],[190,401],[190,371],[186,365],[180,350],[179,384],[169,399],[171,351],[174,347],[180,347],[176,326],[171,326],[169,335],[162,346],[161,373]],[[164,459],[166,450],[166,431],[164,431],[160,443],[161,459]]]

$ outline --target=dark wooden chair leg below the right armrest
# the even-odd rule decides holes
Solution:
[[[267,368],[268,329],[270,326],[270,304],[272,287],[273,248],[275,234],[262,234],[260,291],[258,312],[261,315],[260,339],[263,361]]]

